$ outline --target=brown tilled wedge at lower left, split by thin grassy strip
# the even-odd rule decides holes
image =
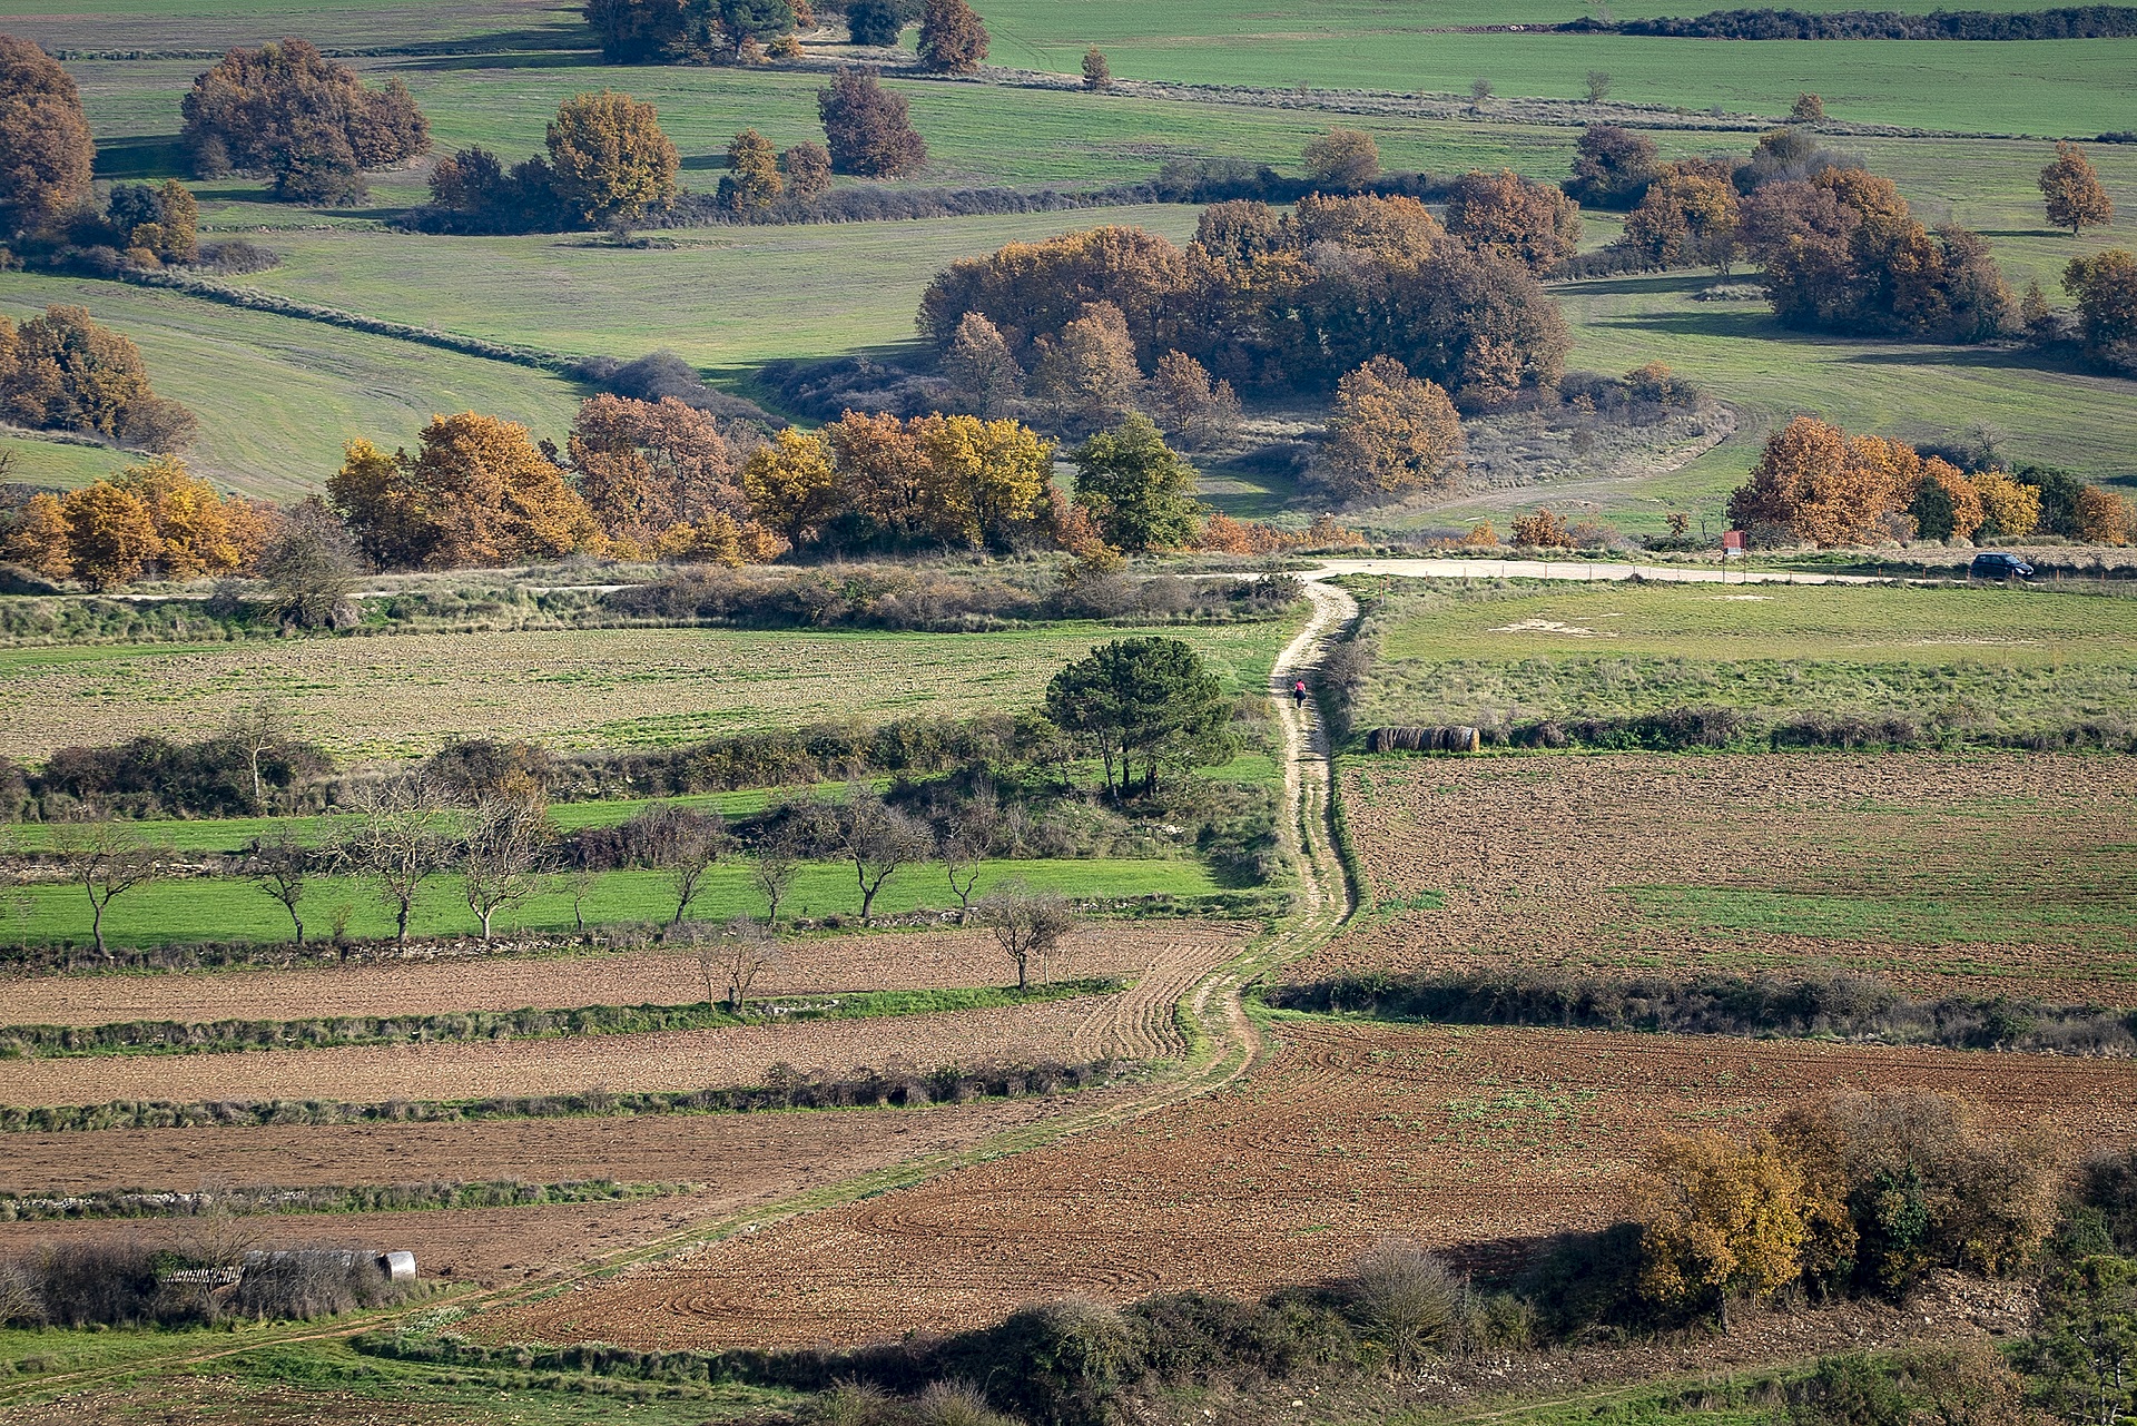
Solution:
[[[925,1110],[0,1135],[0,1187],[197,1191],[489,1178],[699,1184],[688,1195],[615,1204],[246,1219],[282,1242],[410,1249],[425,1274],[504,1283],[571,1270],[688,1223],[1133,1092],[1116,1086]],[[184,1219],[0,1223],[0,1257],[83,1240],[182,1246],[188,1227]]]

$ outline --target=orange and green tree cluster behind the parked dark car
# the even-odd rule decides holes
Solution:
[[[2043,517],[2045,515],[2045,517]],[[1908,539],[1994,543],[2037,530],[2094,545],[2133,539],[2131,502],[2060,470],[1964,472],[1883,436],[1849,436],[1816,417],[1776,432],[1729,522],[1754,543],[1825,549]]]

